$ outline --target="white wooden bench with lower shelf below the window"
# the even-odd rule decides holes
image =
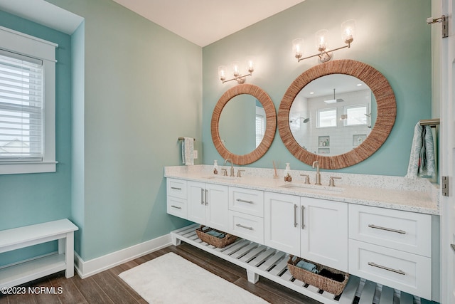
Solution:
[[[63,270],[66,278],[74,276],[74,231],[77,229],[68,219],[60,219],[0,231],[0,253],[58,240],[58,253],[0,268],[0,288]]]

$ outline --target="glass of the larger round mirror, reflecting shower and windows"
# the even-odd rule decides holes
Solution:
[[[291,104],[289,128],[308,152],[333,156],[358,147],[377,117],[375,96],[362,80],[325,75],[306,85]]]

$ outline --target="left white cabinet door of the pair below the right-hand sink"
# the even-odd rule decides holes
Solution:
[[[264,193],[264,244],[300,256],[300,196]]]

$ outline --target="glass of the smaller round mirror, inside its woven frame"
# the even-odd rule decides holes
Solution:
[[[218,122],[221,142],[233,154],[248,154],[262,142],[266,115],[259,100],[249,94],[231,98]]]

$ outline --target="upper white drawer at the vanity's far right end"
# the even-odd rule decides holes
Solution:
[[[431,257],[429,214],[349,205],[349,238]]]

